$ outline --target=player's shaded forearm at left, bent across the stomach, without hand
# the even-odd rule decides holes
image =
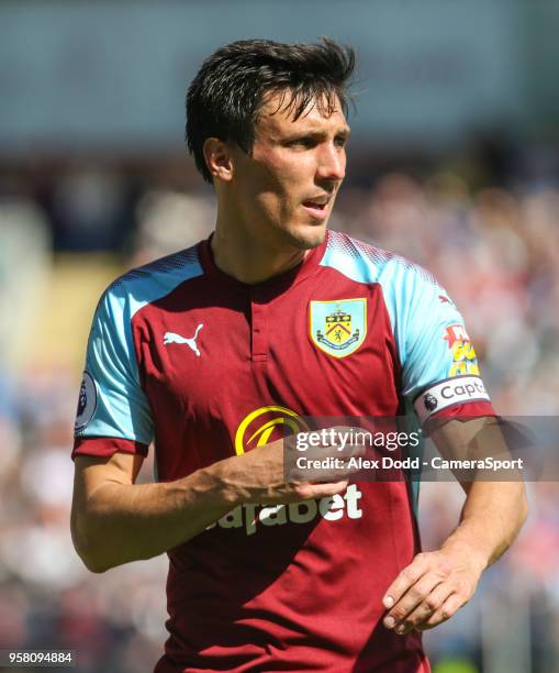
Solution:
[[[219,463],[176,482],[108,482],[72,508],[72,537],[89,570],[103,572],[190,540],[236,504]]]

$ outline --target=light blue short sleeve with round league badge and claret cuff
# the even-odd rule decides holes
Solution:
[[[109,456],[116,451],[147,453],[153,420],[139,383],[131,319],[122,285],[109,288],[99,302],[89,335],[72,456]]]

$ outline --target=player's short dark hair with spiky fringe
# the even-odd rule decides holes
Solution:
[[[235,142],[250,154],[255,124],[269,92],[288,95],[279,109],[298,119],[312,100],[329,113],[337,96],[347,112],[355,52],[323,37],[314,44],[241,40],[214,52],[187,92],[186,140],[204,180],[212,183],[203,145],[208,137]]]

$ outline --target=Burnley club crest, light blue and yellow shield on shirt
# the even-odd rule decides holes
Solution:
[[[311,301],[311,340],[334,357],[355,353],[367,334],[367,300]]]

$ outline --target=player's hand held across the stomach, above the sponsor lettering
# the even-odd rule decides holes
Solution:
[[[347,432],[349,428],[336,427],[334,430]],[[311,452],[300,452],[293,439],[277,440],[221,462],[220,481],[226,490],[234,494],[233,499],[237,504],[297,503],[345,490],[350,474],[358,472],[357,467],[348,466],[348,461],[362,455],[365,446],[346,445],[340,452],[335,444],[326,442],[322,446],[314,446]],[[329,470],[293,470],[297,457],[306,453],[313,459],[332,456],[338,463]]]

